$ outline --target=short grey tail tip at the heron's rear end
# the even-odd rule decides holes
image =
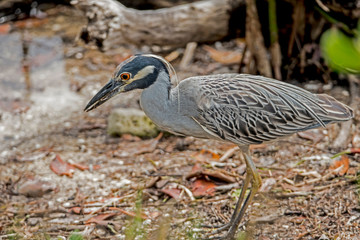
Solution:
[[[354,111],[347,105],[326,94],[317,94],[319,105],[326,114],[319,114],[324,122],[347,121],[354,117]]]

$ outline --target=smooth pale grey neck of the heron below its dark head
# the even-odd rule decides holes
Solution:
[[[161,71],[156,81],[141,93],[140,104],[144,112],[155,123],[166,114],[170,105],[171,82],[169,75]]]

